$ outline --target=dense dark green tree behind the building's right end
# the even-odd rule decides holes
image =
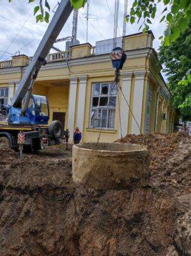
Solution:
[[[191,22],[170,46],[160,46],[158,57],[165,66],[174,108],[183,120],[191,120]]]

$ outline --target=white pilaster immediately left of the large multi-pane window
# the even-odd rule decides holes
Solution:
[[[83,134],[84,130],[84,111],[86,103],[86,85],[87,85],[87,76],[79,77],[79,99],[77,106],[77,126]]]

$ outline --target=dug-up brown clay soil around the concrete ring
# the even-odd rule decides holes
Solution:
[[[71,150],[18,159],[0,150],[0,256],[191,255],[191,143],[185,134],[128,135],[150,152],[147,186],[95,191],[72,181]]]

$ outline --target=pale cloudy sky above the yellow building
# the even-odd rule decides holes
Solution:
[[[59,0],[61,1],[61,0]],[[128,1],[128,10],[132,5],[132,1]],[[36,0],[38,2],[38,0]],[[34,3],[27,4],[28,0],[1,0],[0,2],[0,61],[8,59],[15,52],[20,54],[33,56],[40,40],[42,39],[48,24],[45,22],[36,24],[33,16]],[[52,9],[57,4],[57,0],[49,0],[51,6],[50,17],[54,15]],[[109,6],[109,7],[108,7]],[[118,36],[123,34],[123,8],[124,0],[119,3],[119,22]],[[110,11],[110,10],[111,11]],[[154,48],[157,51],[160,42],[158,37],[163,35],[165,24],[160,24],[163,4],[158,4],[157,19],[150,26],[155,35]],[[112,15],[111,15],[112,14]],[[86,42],[86,7],[79,11],[79,23],[77,28],[77,39],[80,43]],[[89,33],[88,42],[95,45],[96,41],[112,38],[114,24],[114,0],[91,0],[89,15]],[[126,35],[139,32],[140,24],[126,25]],[[62,29],[59,38],[72,35],[72,15],[66,22],[65,28]],[[61,50],[65,50],[63,43],[55,44]],[[8,53],[3,53],[6,51]]]

